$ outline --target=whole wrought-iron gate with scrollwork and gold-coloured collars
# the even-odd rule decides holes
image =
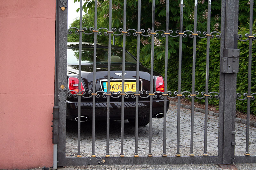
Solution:
[[[247,114],[247,130],[246,130],[246,147],[245,154],[243,156],[235,156],[235,112],[236,112],[236,98],[238,100],[248,101],[248,112],[250,113],[250,100],[254,100],[251,93],[251,62],[252,62],[252,41],[256,39],[255,34],[252,33],[252,11],[253,11],[253,0],[250,3],[250,33],[246,34],[246,40],[241,40],[241,36],[237,36],[238,32],[238,1],[236,0],[222,0],[221,1],[221,33],[210,32],[211,25],[211,0],[208,1],[208,20],[207,20],[207,31],[201,33],[197,31],[197,0],[194,5],[194,30],[183,30],[183,0],[180,2],[180,28],[173,32],[169,29],[169,0],[166,0],[166,29],[155,30],[155,0],[152,0],[152,27],[145,31],[141,28],[141,16],[140,16],[140,0],[138,0],[138,27],[137,29],[126,28],[126,0],[124,0],[124,22],[123,29],[119,29],[119,34],[116,34],[116,28],[112,28],[112,0],[109,0],[109,27],[98,28],[97,27],[97,0],[95,0],[95,22],[94,28],[90,28],[91,33],[85,33],[87,28],[82,26],[82,10],[80,10],[80,27],[71,28],[67,31],[67,0],[57,0],[56,5],[56,65],[55,65],[55,107],[53,114],[53,144],[54,144],[54,168],[58,166],[68,165],[126,165],[126,164],[230,164],[230,163],[256,163],[256,156],[249,154],[249,116]],[[83,8],[83,1],[80,1],[80,9]],[[73,32],[72,32],[73,29]],[[81,50],[82,50],[82,34],[92,34],[94,36],[94,53],[93,53],[93,81],[96,82],[96,40],[97,36],[100,36],[101,29],[107,30],[104,34],[108,36],[108,77],[107,77],[107,92],[96,91],[95,83],[93,83],[92,90],[81,92],[81,84],[78,83],[78,91],[75,94],[71,94],[67,87],[67,34],[76,33],[80,37],[79,42],[79,72],[78,82],[81,82]],[[75,31],[74,31],[75,30]],[[146,33],[145,33],[146,32]],[[132,34],[131,34],[132,33]],[[164,88],[164,92],[156,92],[153,89],[154,77],[153,77],[153,66],[154,66],[154,39],[161,34],[165,37],[165,65],[164,65],[164,82],[167,82],[167,70],[168,70],[168,39],[173,37],[179,37],[179,65],[178,65],[178,90],[177,92],[169,92]],[[182,39],[188,36],[193,38],[193,68],[192,72],[192,89],[191,92],[181,91],[181,59],[182,59]],[[102,35],[102,36],[105,36]],[[125,51],[125,38],[126,36],[134,36],[137,38],[137,63],[136,63],[136,92],[127,95],[122,91],[114,95],[113,92],[109,91],[110,86],[110,68],[111,68],[111,36],[123,36],[123,52]],[[90,36],[90,35],[88,35]],[[148,156],[139,157],[138,152],[138,102],[142,97],[143,92],[139,90],[139,61],[140,61],[140,37],[151,36],[151,70],[150,70],[150,90],[144,92],[144,98],[149,98],[150,110],[149,110],[149,146]],[[238,37],[238,39],[237,39]],[[207,39],[206,48],[206,72],[205,72],[205,92],[195,91],[195,63],[196,63],[196,38]],[[208,80],[209,80],[209,52],[211,39],[220,39],[220,91],[209,92],[208,91]],[[249,66],[248,66],[248,92],[244,93],[245,98],[240,99],[240,94],[236,94],[236,73],[238,72],[238,58],[239,49],[237,49],[237,41],[250,41],[249,49]],[[242,50],[242,49],[241,49]],[[121,82],[124,85],[125,82],[125,53],[123,53],[122,60],[122,78]],[[180,152],[180,101],[187,97],[191,99],[191,135],[190,135],[190,154],[189,156],[182,156]],[[214,96],[213,96],[214,95]],[[78,100],[78,144],[77,144],[77,156],[66,157],[66,100],[67,97],[75,97]],[[133,97],[136,100],[136,111],[135,111],[135,141],[134,141],[134,156],[126,157],[124,155],[124,100],[127,97]],[[105,158],[97,157],[95,153],[95,100],[96,98],[106,98],[107,100],[107,134],[106,134],[106,155]],[[109,154],[109,116],[111,110],[109,109],[109,102],[111,97],[120,98],[122,102],[122,113],[121,113],[121,146],[120,156],[111,157]],[[215,97],[219,99],[219,136],[218,136],[218,155],[208,156],[207,152],[207,121],[208,115],[204,116],[204,152],[202,156],[194,155],[194,101],[197,99],[205,99],[205,110],[208,110],[208,100]],[[93,115],[92,115],[92,152],[91,157],[82,157],[80,152],[80,123],[81,123],[81,98],[92,98],[93,103]],[[164,100],[164,108],[166,108],[167,98],[178,98],[178,109],[177,109],[177,148],[175,155],[169,155],[166,152],[166,109],[164,109],[163,118],[163,152],[162,155],[152,155],[152,102],[155,98],[161,98]],[[59,126],[58,126],[59,125]],[[58,152],[57,152],[58,151]],[[58,159],[56,159],[58,157]]]

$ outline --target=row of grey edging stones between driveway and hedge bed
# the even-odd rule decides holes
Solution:
[[[175,102],[175,101],[170,101],[170,104],[178,106],[178,103]],[[189,105],[180,104],[180,107],[191,110],[191,106],[189,106]],[[198,108],[198,107],[195,107],[194,110],[195,110],[195,112],[204,113],[204,109],[201,109],[201,108]],[[212,111],[208,111],[208,115],[219,117],[219,113],[212,112]],[[236,122],[246,124],[246,119],[236,117]],[[256,121],[250,121],[250,126],[256,127]]]

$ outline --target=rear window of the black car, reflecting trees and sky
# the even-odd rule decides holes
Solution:
[[[120,63],[123,61],[123,50],[118,48],[111,49],[111,63]],[[79,48],[68,48],[68,65],[78,65]],[[82,65],[93,63],[93,48],[82,48]],[[108,48],[97,48],[96,63],[108,64]],[[136,59],[125,52],[125,63],[136,64]]]

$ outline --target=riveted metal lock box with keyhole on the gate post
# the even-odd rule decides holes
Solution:
[[[225,48],[221,58],[222,73],[238,73],[240,49]]]

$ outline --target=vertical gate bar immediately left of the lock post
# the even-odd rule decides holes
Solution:
[[[207,18],[207,34],[211,31],[211,0],[208,1],[208,18]],[[209,56],[210,56],[210,36],[207,36],[206,44],[206,74],[205,74],[205,94],[208,94],[209,87]],[[204,107],[204,154],[207,154],[207,123],[208,123],[208,96],[205,96],[205,107]]]

